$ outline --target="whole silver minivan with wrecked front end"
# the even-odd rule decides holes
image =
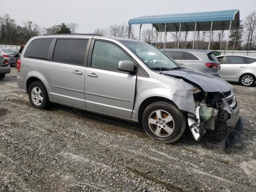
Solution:
[[[17,62],[18,88],[34,108],[50,102],[142,123],[164,143],[188,126],[195,140],[206,130],[228,130],[222,147],[239,139],[243,121],[232,86],[181,67],[137,40],[86,34],[31,38]]]

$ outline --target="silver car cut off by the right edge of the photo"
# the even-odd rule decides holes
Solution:
[[[252,86],[256,80],[256,56],[222,55],[220,61],[221,78]]]

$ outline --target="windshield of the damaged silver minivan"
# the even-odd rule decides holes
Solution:
[[[169,56],[147,43],[127,40],[122,40],[121,42],[139,56],[152,70],[173,70],[182,68]]]

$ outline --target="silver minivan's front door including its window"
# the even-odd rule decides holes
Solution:
[[[118,62],[132,59],[111,42],[95,40],[93,43],[89,66],[85,70],[86,108],[131,118],[136,74],[118,70]]]

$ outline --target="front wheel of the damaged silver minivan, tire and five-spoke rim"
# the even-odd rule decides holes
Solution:
[[[142,116],[142,125],[148,136],[162,142],[177,141],[186,129],[183,113],[171,102],[155,102],[150,104]]]

